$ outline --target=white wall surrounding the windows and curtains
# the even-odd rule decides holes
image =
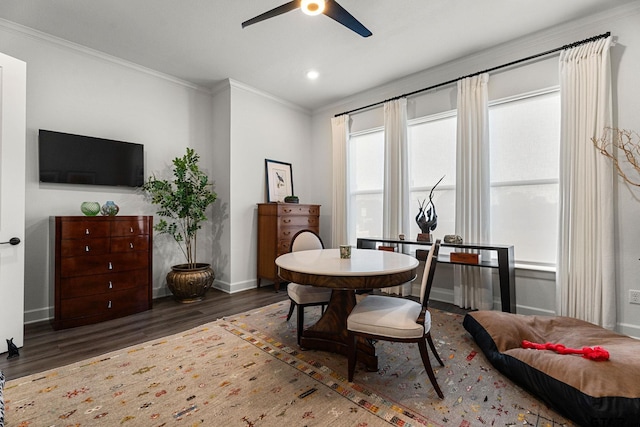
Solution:
[[[479,52],[462,60],[443,64],[433,69],[407,76],[387,85],[354,95],[340,103],[314,111],[312,118],[313,155],[316,164],[325,170],[331,170],[331,125],[330,118],[344,111],[389,99],[403,93],[409,93],[485,70],[501,64],[560,47],[578,40],[611,31],[617,38],[617,46],[612,49],[612,68],[614,85],[614,124],[620,128],[640,130],[640,87],[637,84],[640,70],[640,6],[638,3],[612,9],[606,13],[587,19],[567,23],[538,34]],[[419,54],[419,53],[416,53]],[[424,53],[428,55],[428,52]],[[527,92],[536,86],[557,84],[555,73],[557,55],[551,60],[539,60],[526,67],[516,67],[493,73],[490,78],[492,98],[501,98],[515,93]],[[366,70],[363,70],[366,72]],[[422,99],[421,99],[422,98]],[[428,99],[428,102],[424,100]],[[411,117],[442,111],[443,106],[455,108],[455,88],[443,87],[410,99]],[[361,117],[360,117],[361,116]],[[380,109],[360,113],[353,121],[359,129],[382,124]],[[330,212],[332,184],[327,181],[316,182],[316,194],[319,203],[323,203],[325,212]],[[618,180],[616,190],[617,231],[616,257],[618,259],[618,326],[620,332],[640,337],[640,305],[627,302],[629,289],[640,289],[637,278],[640,277],[640,190],[630,188]],[[330,222],[330,218],[326,218]],[[322,224],[324,229],[330,226]],[[329,234],[330,236],[330,234]],[[325,240],[329,245],[332,242]],[[508,242],[502,242],[508,243]],[[443,274],[443,277],[446,274]],[[434,287],[432,295],[452,301],[449,285],[441,280]],[[517,270],[516,303],[519,312],[549,314],[555,312],[554,275],[549,272]],[[495,283],[495,282],[494,282]],[[451,296],[451,297],[450,297]],[[451,299],[450,299],[451,298]]]

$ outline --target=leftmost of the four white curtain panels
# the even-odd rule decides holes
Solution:
[[[331,135],[333,140],[333,208],[331,210],[331,246],[349,244],[347,189],[347,142],[349,139],[349,115],[331,119]]]

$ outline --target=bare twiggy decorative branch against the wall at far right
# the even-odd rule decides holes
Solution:
[[[615,150],[621,150],[627,163],[629,163],[640,174],[640,135],[637,132],[626,129],[617,129],[606,127],[604,135],[600,138],[591,138],[593,145],[602,153],[602,155],[611,159],[615,165],[618,175],[626,182],[636,187],[640,187],[640,182],[636,182],[629,178],[624,172],[624,162],[621,164]]]

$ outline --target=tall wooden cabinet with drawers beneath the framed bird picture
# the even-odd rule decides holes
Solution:
[[[279,289],[275,260],[289,252],[291,238],[300,230],[320,232],[320,205],[258,204],[258,287],[267,279]]]

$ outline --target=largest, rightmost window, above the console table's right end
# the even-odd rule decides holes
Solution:
[[[513,244],[519,263],[555,265],[560,92],[492,103],[491,241]]]

